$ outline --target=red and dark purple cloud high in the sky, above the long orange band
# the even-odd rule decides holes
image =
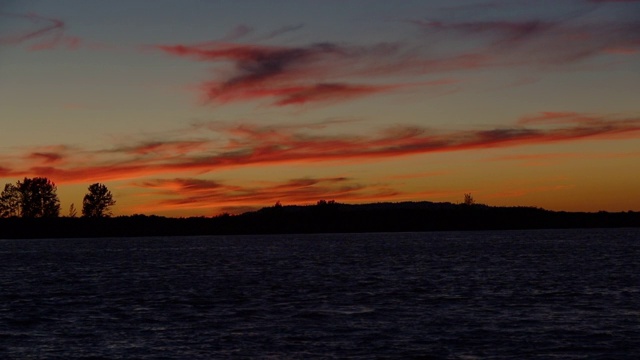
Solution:
[[[407,55],[403,54],[398,46],[389,44],[357,47],[320,43],[306,47],[283,47],[207,43],[191,46],[159,45],[156,48],[168,54],[198,61],[234,64],[226,78],[203,83],[202,89],[207,101],[275,98],[273,105],[286,106],[344,100],[392,91],[407,85],[420,85],[352,84],[326,80],[365,76],[368,78],[374,74],[403,72],[400,70],[403,66],[402,59]],[[416,71],[415,67],[408,69]],[[450,80],[439,80],[422,84],[435,86],[450,83]]]

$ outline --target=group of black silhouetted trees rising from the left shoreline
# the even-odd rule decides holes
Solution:
[[[52,218],[60,216],[60,199],[56,184],[46,177],[25,177],[15,184],[5,184],[0,193],[0,217]],[[82,199],[83,217],[109,217],[116,204],[113,194],[101,183],[91,184]],[[69,217],[76,217],[71,204]]]

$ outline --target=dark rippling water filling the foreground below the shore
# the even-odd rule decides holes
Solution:
[[[640,229],[0,240],[0,358],[640,359]]]

